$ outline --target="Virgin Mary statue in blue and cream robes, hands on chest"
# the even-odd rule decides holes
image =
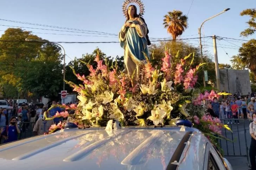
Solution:
[[[127,20],[119,33],[119,41],[124,49],[124,64],[127,74],[139,75],[140,65],[146,60],[147,48],[147,25],[137,14],[137,8],[130,5],[127,9]]]

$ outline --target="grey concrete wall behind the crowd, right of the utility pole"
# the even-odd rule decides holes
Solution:
[[[238,91],[240,94],[247,95],[251,93],[251,83],[249,70],[219,70],[220,90],[228,91],[235,94]]]

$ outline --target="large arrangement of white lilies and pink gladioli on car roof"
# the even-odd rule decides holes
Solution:
[[[178,55],[175,57],[177,61]],[[172,56],[166,50],[164,58],[158,63],[147,59],[137,70],[139,76],[136,76],[121,72],[117,63],[109,67],[108,61],[103,63],[97,55],[93,61],[97,63],[96,68],[90,62],[85,63],[90,70],[89,76],[76,74],[72,68],[83,84],[66,83],[79,94],[79,104],[77,107],[61,107],[75,110],[75,114],[69,117],[80,128],[106,126],[110,119],[121,122],[122,126],[162,126],[186,118],[208,137],[220,135],[221,128],[227,127],[220,124],[218,119],[206,116],[201,104],[203,100],[226,94],[212,91],[203,95],[194,89],[197,73],[205,63],[192,68],[193,60],[194,55],[191,53],[178,63],[172,63]],[[199,108],[200,114],[193,113],[194,108]],[[66,117],[68,114],[57,113],[51,118],[59,116]],[[60,124],[57,127],[62,126]]]

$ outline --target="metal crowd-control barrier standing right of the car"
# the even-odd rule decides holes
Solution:
[[[251,136],[249,133],[250,120],[248,119],[220,119],[222,123],[228,124],[230,129],[223,128],[222,135],[231,141],[219,140],[220,147],[224,151],[224,157],[246,157],[249,165],[248,145]]]

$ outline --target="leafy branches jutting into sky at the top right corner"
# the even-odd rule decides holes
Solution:
[[[249,28],[245,29],[243,32],[241,32],[240,35],[242,36],[249,36],[256,32],[256,9],[245,9],[240,13],[241,16],[249,15],[251,18],[248,22],[246,22],[249,26]]]

